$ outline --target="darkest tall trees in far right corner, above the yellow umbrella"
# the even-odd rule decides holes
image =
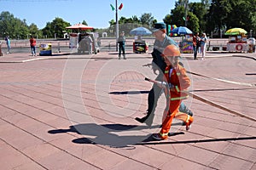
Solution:
[[[241,27],[256,32],[256,0],[212,0],[207,14],[207,31]]]

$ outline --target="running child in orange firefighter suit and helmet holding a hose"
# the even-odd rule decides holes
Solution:
[[[186,130],[189,130],[190,124],[193,122],[193,117],[185,113],[179,112],[178,108],[183,99],[189,97],[188,94],[184,93],[190,86],[190,79],[186,74],[185,69],[182,65],[179,65],[180,52],[177,46],[168,45],[164,52],[163,57],[166,62],[165,81],[167,86],[165,93],[167,94],[166,114],[164,113],[162,127],[160,133],[154,133],[153,138],[157,140],[163,140],[168,138],[168,133],[172,125],[172,119],[183,120],[186,125]]]

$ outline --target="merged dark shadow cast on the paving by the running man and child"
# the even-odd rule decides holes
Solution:
[[[173,124],[178,126],[180,123]],[[79,133],[86,135],[86,138],[73,139],[76,144],[103,144],[111,147],[123,148],[135,145],[141,142],[154,141],[148,129],[156,128],[158,130],[160,125],[148,127],[146,125],[123,125],[123,124],[103,124],[97,125],[95,123],[84,123],[70,126],[67,129],[49,130],[48,133]],[[172,133],[171,136],[183,134]],[[89,136],[89,137],[87,137]]]

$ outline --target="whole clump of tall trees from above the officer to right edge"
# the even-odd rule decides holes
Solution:
[[[224,33],[232,27],[241,27],[256,32],[256,0],[201,0],[201,3],[189,3],[187,26],[192,31]],[[185,26],[185,3],[178,0],[171,14],[166,14],[164,22],[168,25]],[[197,18],[197,19],[196,19]]]

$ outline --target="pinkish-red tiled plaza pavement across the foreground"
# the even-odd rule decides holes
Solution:
[[[200,56],[201,54],[199,54]],[[165,96],[148,127],[151,54],[28,53],[0,57],[1,169],[256,169],[256,54],[183,54],[194,120],[155,141]]]

